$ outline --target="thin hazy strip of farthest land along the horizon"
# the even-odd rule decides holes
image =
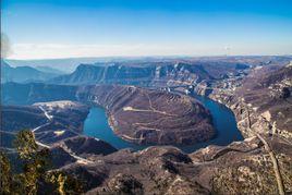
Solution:
[[[226,61],[226,62],[245,62],[248,64],[253,63],[268,63],[268,62],[281,62],[291,59],[291,56],[255,56],[255,57],[104,57],[104,58],[66,58],[66,59],[41,59],[41,60],[10,60],[7,59],[5,62],[11,66],[48,66],[61,72],[72,73],[80,64],[109,64],[109,63],[132,63],[141,64],[143,62],[154,63],[154,62],[175,62],[175,61]]]

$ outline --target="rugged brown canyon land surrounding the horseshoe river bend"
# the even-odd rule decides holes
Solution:
[[[14,106],[5,106],[4,111],[16,110],[12,115],[20,112],[38,122],[9,122],[4,132],[15,126],[33,130],[40,126],[36,133],[44,130],[53,134],[52,139],[46,134],[36,137],[44,144],[41,147],[48,146],[54,154],[54,169],[90,181],[85,186],[87,194],[278,194],[281,186],[289,194],[292,192],[291,60],[234,57],[123,62],[110,66],[83,64],[72,74],[46,84],[8,83],[2,85],[2,101]],[[117,151],[102,141],[78,135],[83,125],[80,121],[84,121],[88,108],[99,105],[108,111],[117,135],[138,138],[136,142],[124,137],[130,142],[187,144],[209,139],[215,136],[211,115],[188,96],[193,93],[229,107],[245,139],[185,154],[173,146]],[[50,119],[58,125],[66,125],[47,132],[47,126],[41,125],[50,123]],[[161,122],[149,123],[159,119]],[[131,126],[141,121],[147,125]],[[174,135],[168,135],[172,127]],[[154,133],[153,129],[162,131]],[[65,132],[75,134],[57,138]]]

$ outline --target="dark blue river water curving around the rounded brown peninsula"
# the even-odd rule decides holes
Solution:
[[[208,145],[226,146],[234,141],[242,141],[243,136],[236,127],[235,118],[230,109],[209,98],[193,95],[198,99],[212,114],[212,122],[217,131],[216,137],[210,141],[188,146],[179,146],[185,153],[193,153]],[[84,122],[83,133],[87,136],[102,139],[118,149],[132,148],[139,150],[149,145],[136,145],[118,137],[108,124],[108,118],[104,108],[93,107]]]

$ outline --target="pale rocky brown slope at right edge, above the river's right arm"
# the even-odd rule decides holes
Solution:
[[[291,66],[255,68],[248,76],[236,81],[236,89],[216,88],[211,99],[229,106],[238,119],[238,126],[248,137],[255,133],[279,134],[292,138]],[[217,82],[222,85],[224,81]]]

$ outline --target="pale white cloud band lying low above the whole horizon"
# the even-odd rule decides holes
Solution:
[[[66,45],[15,44],[11,59],[54,59],[77,57],[138,57],[138,56],[220,56],[220,54],[291,54],[289,44],[226,45]],[[264,49],[263,49],[264,48]],[[279,52],[275,53],[275,49]],[[287,51],[290,51],[287,52]]]

